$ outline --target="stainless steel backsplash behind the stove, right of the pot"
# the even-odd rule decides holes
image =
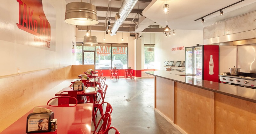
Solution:
[[[256,44],[237,46],[237,67],[240,72],[256,73]]]

